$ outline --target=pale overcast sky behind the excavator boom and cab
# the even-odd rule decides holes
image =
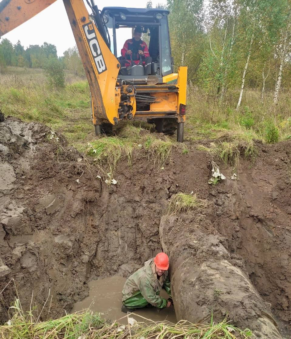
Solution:
[[[153,7],[158,2],[165,3],[165,1],[153,0]],[[95,3],[99,9],[105,6],[124,7],[122,1],[116,0],[107,0],[106,2],[95,0]],[[139,0],[138,3],[130,3],[130,5],[132,7],[145,8],[146,3],[147,0]],[[27,48],[29,45],[42,45],[46,41],[56,45],[58,56],[62,56],[66,49],[76,45],[62,0],[57,0],[32,19],[3,35],[2,38],[9,39],[13,44],[20,40],[24,48]]]

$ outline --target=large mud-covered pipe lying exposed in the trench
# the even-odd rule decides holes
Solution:
[[[213,312],[216,322],[228,315],[231,323],[250,328],[261,339],[281,338],[270,304],[255,290],[242,259],[230,256],[223,237],[203,233],[187,216],[163,216],[160,238],[170,257],[178,320],[207,322]]]

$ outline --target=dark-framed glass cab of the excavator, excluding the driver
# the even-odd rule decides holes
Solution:
[[[173,73],[173,62],[171,57],[168,14],[166,9],[156,8],[126,8],[126,7],[104,7],[102,10],[103,20],[106,23],[110,37],[111,52],[120,60],[121,49],[127,39],[133,37],[135,27],[141,27],[142,40],[148,46],[151,63],[152,81],[163,83],[163,77]],[[129,58],[129,57],[128,57]],[[131,71],[130,67],[129,73]],[[144,75],[123,76],[119,72],[119,78],[132,80],[134,83],[148,82]]]

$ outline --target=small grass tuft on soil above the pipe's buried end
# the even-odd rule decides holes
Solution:
[[[171,196],[168,205],[168,214],[187,213],[199,208],[205,208],[208,201],[197,198],[196,194],[178,193]]]

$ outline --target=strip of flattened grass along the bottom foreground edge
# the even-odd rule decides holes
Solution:
[[[154,322],[141,317],[148,323],[120,325],[116,321],[102,319],[99,314],[89,311],[41,322],[34,316],[35,310],[25,314],[19,303],[15,310],[12,319],[0,326],[0,336],[3,339],[245,339],[252,335],[250,330],[242,331],[228,323],[226,319],[215,323],[213,317],[210,324],[192,324],[185,320],[173,324],[167,321]]]

